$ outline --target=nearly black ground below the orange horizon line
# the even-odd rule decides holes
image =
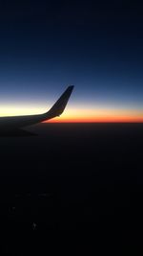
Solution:
[[[28,129],[27,129],[28,130]],[[143,124],[41,124],[0,135],[1,251],[138,255]],[[97,255],[100,255],[97,253]],[[121,254],[120,254],[121,255]]]

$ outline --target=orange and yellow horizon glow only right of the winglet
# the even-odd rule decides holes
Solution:
[[[69,109],[50,123],[143,123],[143,110]]]

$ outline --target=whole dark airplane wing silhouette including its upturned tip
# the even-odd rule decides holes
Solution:
[[[57,100],[57,102],[51,107],[51,109],[44,114],[0,117],[0,129],[15,129],[28,127],[49,120],[56,116],[60,116],[69,101],[73,87],[73,85],[70,85]]]

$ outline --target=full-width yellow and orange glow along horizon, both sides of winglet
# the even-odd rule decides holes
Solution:
[[[50,108],[49,108],[50,109]],[[41,114],[47,108],[35,106],[16,107],[1,106],[0,116],[17,116]],[[46,123],[143,123],[143,109],[117,109],[117,108],[94,108],[67,106],[60,117],[46,121]]]

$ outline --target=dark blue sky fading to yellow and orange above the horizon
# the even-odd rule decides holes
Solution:
[[[51,122],[143,122],[141,1],[0,1],[0,116],[43,113],[69,84]]]

